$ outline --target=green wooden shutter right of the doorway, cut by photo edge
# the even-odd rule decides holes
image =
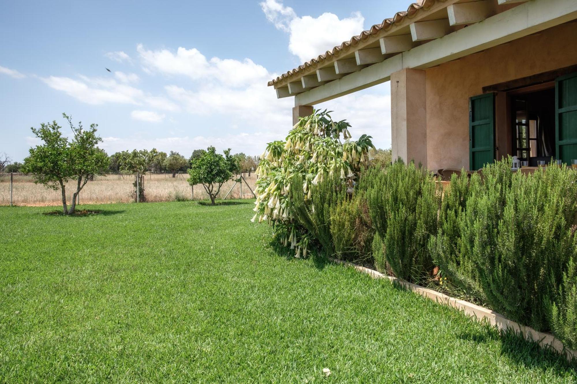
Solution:
[[[577,159],[577,72],[555,80],[555,149],[557,159]]]

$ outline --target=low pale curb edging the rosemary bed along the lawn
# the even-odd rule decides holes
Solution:
[[[475,318],[477,321],[486,321],[490,323],[490,325],[496,326],[497,329],[501,331],[513,330],[516,334],[519,334],[525,340],[537,342],[537,344],[539,344],[539,346],[542,348],[550,349],[556,353],[559,353],[560,355],[563,355],[569,362],[577,358],[577,351],[574,349],[565,348],[563,342],[554,337],[552,334],[546,332],[538,332],[531,327],[520,325],[519,323],[511,321],[505,318],[503,315],[485,307],[466,302],[465,300],[452,298],[451,296],[447,296],[444,293],[434,291],[433,289],[424,288],[417,284],[409,283],[409,281],[401,280],[400,278],[387,276],[386,274],[377,272],[373,269],[365,268],[364,266],[334,258],[329,258],[329,260],[334,263],[349,266],[358,270],[359,272],[366,273],[372,278],[387,278],[389,281],[391,281],[391,283],[400,285],[409,291],[418,293],[424,298],[434,300],[441,305],[453,307],[456,310],[462,311],[467,316]]]

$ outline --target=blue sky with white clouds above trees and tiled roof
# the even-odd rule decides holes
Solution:
[[[30,127],[63,126],[66,112],[98,123],[109,154],[215,145],[258,155],[291,126],[293,98],[276,99],[266,82],[408,5],[3,1],[0,152],[23,160]],[[388,83],[319,107],[390,146]]]

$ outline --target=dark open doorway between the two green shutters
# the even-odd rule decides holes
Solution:
[[[555,158],[554,82],[509,92],[512,108],[512,155],[536,167]]]

